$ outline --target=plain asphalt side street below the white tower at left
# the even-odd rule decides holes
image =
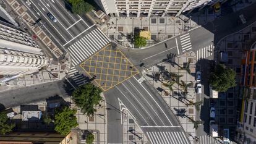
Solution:
[[[0,104],[5,108],[12,108],[20,104],[45,101],[51,96],[66,98],[70,95],[71,86],[66,80],[33,85],[31,87],[18,88],[0,92]]]

